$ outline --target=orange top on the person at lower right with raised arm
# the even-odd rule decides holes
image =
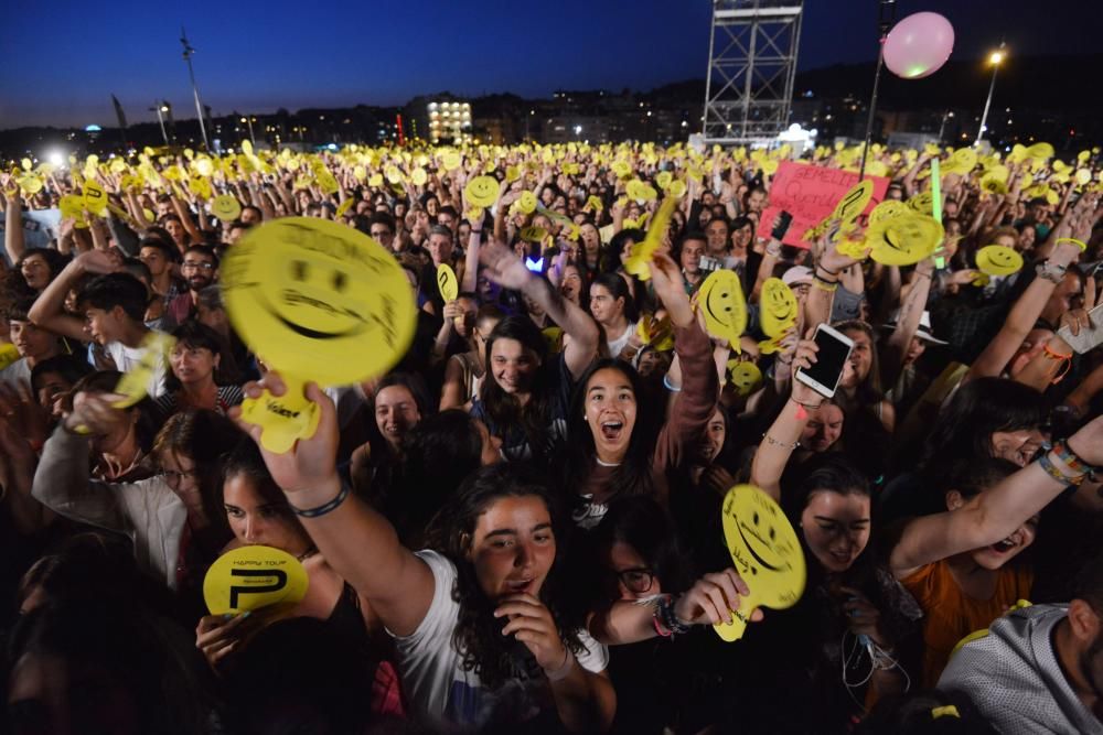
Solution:
[[[954,582],[946,560],[921,566],[900,580],[923,608],[923,687],[933,688],[962,638],[992,625],[1008,607],[1030,596],[1034,572],[1004,566],[996,593],[989,599],[973,599]]]

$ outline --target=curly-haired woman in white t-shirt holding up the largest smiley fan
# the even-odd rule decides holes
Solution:
[[[283,393],[278,376],[266,381]],[[431,550],[414,553],[342,487],[333,404],[312,383],[307,396],[321,410],[318,431],[286,454],[261,450],[265,462],[319,551],[395,637],[413,710],[469,731],[607,727],[607,655],[564,613],[556,540],[565,528],[545,480],[512,464],[481,469],[437,516]],[[259,437],[259,426],[244,425]]]

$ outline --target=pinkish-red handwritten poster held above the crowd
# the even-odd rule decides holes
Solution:
[[[874,196],[863,214],[880,204],[889,180],[885,176],[866,176],[874,182]],[[829,215],[843,195],[858,183],[858,174],[839,169],[825,169],[803,163],[783,161],[770,184],[770,206],[759,219],[758,237],[770,239],[773,221],[782,209],[793,215],[793,223],[782,240],[784,245],[811,248],[802,239],[804,233]]]

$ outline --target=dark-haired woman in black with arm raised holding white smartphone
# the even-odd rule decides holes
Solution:
[[[815,353],[813,342],[802,341],[794,366],[807,369]],[[751,483],[781,502],[796,529],[808,577],[800,603],[767,616],[764,635],[750,644],[765,646],[756,648],[758,656],[774,651],[757,672],[761,683],[756,684],[751,720],[769,722],[770,706],[781,703],[775,687],[786,682],[789,695],[806,706],[786,712],[779,723],[808,732],[844,732],[865,705],[906,691],[917,677],[907,662],[918,641],[920,610],[868,548],[869,477],[840,454],[827,453],[805,462],[795,477],[786,475],[782,485],[808,414],[821,401],[818,393],[794,381],[751,467]]]

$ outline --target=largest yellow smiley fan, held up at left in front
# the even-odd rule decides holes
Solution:
[[[313,435],[319,417],[306,381],[343,386],[383,375],[414,337],[417,306],[398,262],[328,219],[285,217],[249,230],[223,261],[222,285],[234,328],[288,383],[282,398],[266,392],[242,407],[272,452]]]

